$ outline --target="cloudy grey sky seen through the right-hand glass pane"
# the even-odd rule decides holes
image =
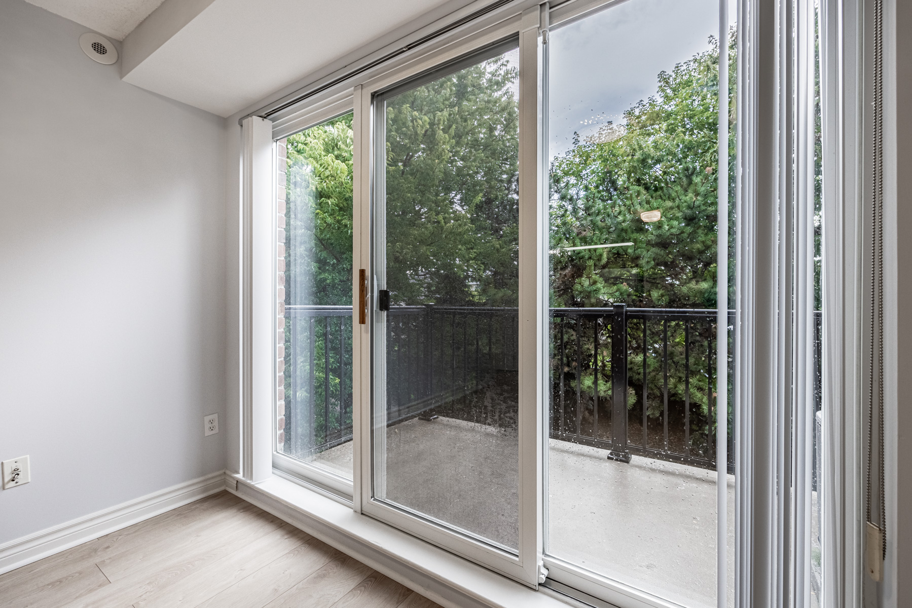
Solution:
[[[656,92],[658,73],[709,48],[719,0],[627,0],[549,32],[550,156]]]

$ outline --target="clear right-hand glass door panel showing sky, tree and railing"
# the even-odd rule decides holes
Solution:
[[[718,0],[629,0],[548,42],[545,552],[694,607],[717,605],[718,33]]]

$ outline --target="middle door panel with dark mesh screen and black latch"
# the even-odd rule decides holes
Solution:
[[[512,48],[511,48],[512,46]],[[518,52],[375,98],[373,497],[518,547]]]

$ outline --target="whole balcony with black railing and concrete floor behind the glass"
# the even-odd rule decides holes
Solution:
[[[518,541],[515,513],[503,513],[518,505],[517,314],[392,307],[386,335],[388,499],[408,496],[410,508],[467,531],[482,521],[506,548]],[[285,315],[300,362],[285,372],[285,452],[351,470],[351,307]],[[715,322],[715,310],[623,304],[550,312],[548,551],[646,588],[662,572],[700,606],[715,603]],[[731,408],[727,424],[733,547]],[[428,470],[440,483],[416,490]],[[445,491],[447,479],[458,492]],[[492,492],[501,500],[487,500]]]

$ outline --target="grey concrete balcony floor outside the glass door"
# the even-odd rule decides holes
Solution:
[[[387,429],[385,498],[506,548],[518,536],[515,429],[438,417]],[[314,464],[351,475],[351,444]],[[551,439],[547,552],[692,608],[716,606],[716,473]],[[734,477],[727,476],[729,601]]]

